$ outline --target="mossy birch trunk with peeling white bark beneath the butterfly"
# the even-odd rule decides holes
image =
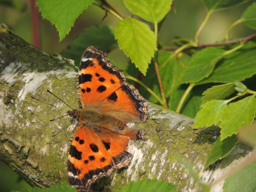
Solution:
[[[69,110],[45,90],[54,91],[71,106],[76,101],[77,67],[61,55],[48,55],[0,25],[0,159],[32,186],[54,186],[66,179],[69,137],[76,122],[70,117],[50,122]],[[193,130],[193,119],[149,104],[150,117],[134,127],[146,131],[148,140],[130,141],[133,159],[128,168],[97,181],[111,191],[132,180],[156,178],[194,191],[194,181],[171,160],[178,152],[189,159],[206,182],[223,175],[248,156],[250,149],[237,145],[211,169],[203,171],[218,127]],[[212,191],[221,191],[223,184]]]

